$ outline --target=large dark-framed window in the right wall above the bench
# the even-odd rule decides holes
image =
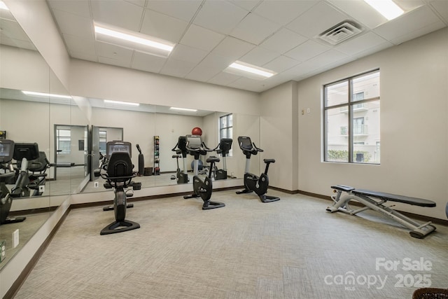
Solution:
[[[379,164],[379,70],[323,90],[323,160]]]

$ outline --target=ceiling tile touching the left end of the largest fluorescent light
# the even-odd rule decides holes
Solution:
[[[53,11],[62,34],[78,36],[83,39],[94,37],[93,23],[90,18],[73,15],[65,11]]]

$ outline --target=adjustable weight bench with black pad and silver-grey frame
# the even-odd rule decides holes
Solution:
[[[397,221],[406,228],[409,228],[409,230],[411,230],[409,235],[419,239],[423,239],[423,237],[426,237],[426,235],[435,230],[435,226],[432,225],[430,221],[423,224],[418,223],[400,212],[391,209],[391,207],[386,207],[384,205],[386,202],[391,201],[412,204],[419,207],[435,207],[435,202],[433,201],[423,200],[416,197],[355,189],[344,185],[331,186],[331,188],[334,189],[336,195],[331,197],[335,203],[332,207],[327,208],[327,211],[329,212],[343,211],[346,214],[355,215],[361,211],[372,209],[374,211],[378,211],[384,216],[387,216],[388,218],[393,219],[394,221]],[[342,195],[342,192],[345,192],[346,195]],[[352,209],[349,205],[350,200],[355,200],[356,202],[363,204],[365,207]]]

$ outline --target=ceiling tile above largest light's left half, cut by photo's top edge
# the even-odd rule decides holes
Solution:
[[[95,22],[139,32],[144,8],[120,0],[91,0]]]

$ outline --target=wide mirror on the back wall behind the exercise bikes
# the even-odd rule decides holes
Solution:
[[[83,189],[83,193],[104,191],[104,180],[92,176],[92,169],[98,167],[102,144],[106,144],[107,141],[131,142],[134,169],[141,174],[135,181],[141,182],[142,188],[150,188],[184,183],[179,181],[177,169],[179,172],[184,172],[186,169],[188,182],[192,181],[193,155],[188,154],[184,159],[183,155],[179,154],[177,158],[178,154],[173,149],[176,148],[179,137],[192,134],[195,127],[201,129],[202,141],[211,149],[218,146],[221,137],[230,136],[235,140],[230,153],[225,157],[228,171],[226,179],[241,179],[244,174],[246,158],[239,149],[237,136],[251,136],[255,144],[260,139],[258,116],[195,109],[179,110],[169,106],[126,104],[104,99],[87,100],[92,106],[93,125],[90,130],[92,165],[91,179]],[[227,121],[223,122],[223,119]],[[218,154],[213,151],[208,155]],[[219,156],[221,161],[216,165],[216,169],[223,168],[223,158],[222,155]],[[260,169],[258,157],[251,158],[251,169],[254,173]],[[201,158],[200,164],[207,172],[206,157]]]

